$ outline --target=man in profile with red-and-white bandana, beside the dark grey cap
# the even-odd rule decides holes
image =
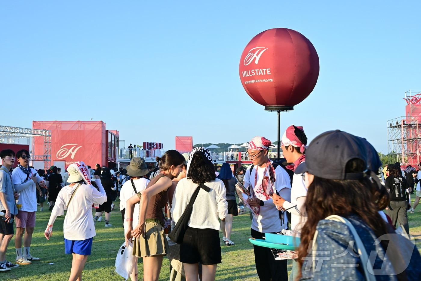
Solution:
[[[288,163],[286,168],[295,171],[295,169],[306,160],[304,150],[307,144],[307,137],[303,127],[291,125],[282,135],[281,149],[285,160]],[[293,234],[299,236],[301,228],[306,222],[304,214],[304,203],[306,202],[307,189],[304,183],[303,174],[295,174],[292,178],[291,200],[285,200],[279,195],[274,194],[272,199],[275,205],[282,207],[291,213],[291,230]],[[289,280],[294,280],[298,275],[298,263],[292,260],[292,272]]]

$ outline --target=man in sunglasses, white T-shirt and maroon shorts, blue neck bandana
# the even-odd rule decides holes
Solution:
[[[37,174],[35,169],[29,168],[29,151],[19,150],[16,153],[19,165],[12,172],[12,183],[19,193],[19,199],[16,206],[18,214],[16,215],[16,263],[19,265],[28,265],[32,261],[40,258],[32,257],[30,246],[32,242],[32,233],[35,227],[35,212],[37,211],[37,188],[36,183],[41,187],[45,186],[45,181]],[[24,254],[22,254],[22,236],[24,237]]]

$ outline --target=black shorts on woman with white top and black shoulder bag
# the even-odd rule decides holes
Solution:
[[[222,262],[219,231],[189,227],[180,245],[180,262],[215,265]]]

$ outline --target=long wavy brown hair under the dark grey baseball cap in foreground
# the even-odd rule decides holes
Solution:
[[[360,173],[365,164],[360,159],[351,159],[346,165],[347,173]],[[314,237],[317,224],[330,215],[347,217],[358,216],[370,227],[376,237],[388,233],[386,223],[378,211],[389,203],[389,195],[383,185],[378,185],[370,178],[359,180],[331,180],[314,176],[309,185],[304,205],[307,220],[301,230],[301,244],[298,248],[299,273]],[[383,243],[384,249],[387,245]]]

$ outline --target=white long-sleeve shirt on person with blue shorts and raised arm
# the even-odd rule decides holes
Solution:
[[[95,183],[99,187],[99,191],[93,186],[81,184],[67,208],[63,224],[63,234],[67,240],[85,240],[96,235],[92,218],[92,204],[104,204],[107,201],[107,195],[101,184],[101,179],[96,179]],[[53,225],[57,216],[64,215],[65,207],[77,185],[67,185],[60,190],[48,225]]]

